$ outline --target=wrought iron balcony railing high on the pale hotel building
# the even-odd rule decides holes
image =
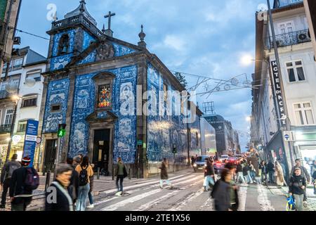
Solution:
[[[275,39],[277,40],[278,47],[290,46],[311,41],[308,30],[300,30],[287,34],[279,34],[275,36]],[[273,38],[267,37],[265,41],[265,49],[272,49],[273,47]]]

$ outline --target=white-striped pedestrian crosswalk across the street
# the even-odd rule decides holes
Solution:
[[[124,188],[128,195],[114,195],[117,189],[95,203],[97,211],[213,211],[210,192],[203,190],[203,174],[187,172],[170,179],[173,188],[159,188],[159,179]],[[284,211],[287,203],[284,195],[273,194],[262,184],[246,184],[239,187],[239,211]]]

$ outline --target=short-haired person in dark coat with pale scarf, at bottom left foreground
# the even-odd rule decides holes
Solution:
[[[46,191],[45,211],[74,211],[70,188],[72,171],[73,168],[68,164],[58,165],[55,181]]]

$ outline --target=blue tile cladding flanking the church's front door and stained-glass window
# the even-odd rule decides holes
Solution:
[[[137,66],[118,68],[114,70],[100,71],[112,72],[116,76],[112,89],[112,113],[119,119],[114,125],[113,158],[121,157],[126,163],[134,163],[136,157],[136,98],[131,98],[132,103],[127,108],[133,110],[133,115],[124,115],[120,100],[126,89],[136,95]],[[69,157],[79,153],[88,154],[89,125],[86,117],[94,112],[96,105],[95,84],[93,77],[98,73],[78,76],[74,90],[74,107],[72,110],[72,125],[70,132]],[[105,117],[106,114],[98,114],[97,117]]]

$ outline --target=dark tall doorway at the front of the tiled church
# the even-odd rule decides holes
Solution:
[[[100,168],[104,175],[108,174],[110,150],[110,129],[99,129],[94,131],[93,141],[93,164],[94,170]]]

